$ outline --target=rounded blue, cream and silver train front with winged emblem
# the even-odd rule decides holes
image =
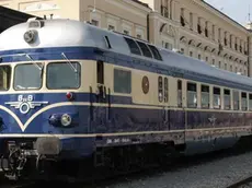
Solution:
[[[92,155],[81,60],[88,52],[73,45],[82,43],[75,33],[82,26],[33,20],[0,35],[0,154],[9,178]]]

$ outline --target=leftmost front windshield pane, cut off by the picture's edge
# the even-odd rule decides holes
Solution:
[[[10,82],[11,82],[11,67],[0,66],[0,91],[9,90]]]

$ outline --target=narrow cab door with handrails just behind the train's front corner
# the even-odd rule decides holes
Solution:
[[[104,82],[104,62],[96,61],[96,109],[95,109],[95,127],[96,132],[106,131],[107,108],[110,103],[110,90]]]

